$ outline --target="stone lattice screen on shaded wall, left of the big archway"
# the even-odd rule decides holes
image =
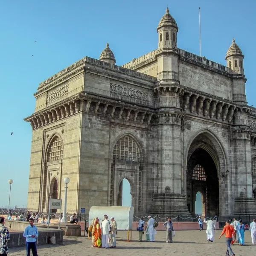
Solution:
[[[122,137],[114,147],[113,159],[139,162],[140,149],[137,143],[130,136]]]

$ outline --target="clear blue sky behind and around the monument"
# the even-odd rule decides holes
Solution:
[[[245,55],[247,101],[256,105],[256,1],[2,1],[0,207],[8,204],[10,178],[11,205],[26,206],[32,131],[23,118],[34,111],[38,84],[84,56],[99,58],[107,41],[117,65],[156,49],[156,28],[167,5],[179,26],[179,48],[199,55],[199,6],[203,56],[226,65],[236,39]]]

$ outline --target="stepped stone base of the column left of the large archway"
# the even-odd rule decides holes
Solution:
[[[186,205],[186,195],[155,193],[152,213],[170,217],[192,217]]]

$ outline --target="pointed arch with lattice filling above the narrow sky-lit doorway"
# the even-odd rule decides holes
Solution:
[[[132,134],[122,134],[114,141],[112,159],[127,162],[142,161],[142,147]]]

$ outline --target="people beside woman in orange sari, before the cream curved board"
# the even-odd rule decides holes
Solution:
[[[116,248],[117,223],[115,217],[108,220],[108,215],[104,215],[104,219],[100,222],[98,217],[93,221],[88,229],[90,235],[92,233],[92,247]]]

